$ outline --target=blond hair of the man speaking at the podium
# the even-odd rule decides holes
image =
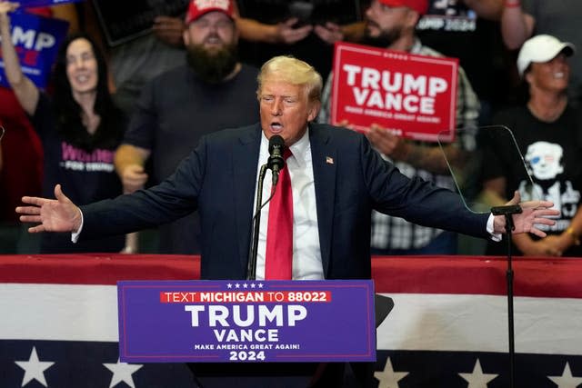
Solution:
[[[261,98],[263,83],[271,77],[291,85],[305,85],[307,98],[310,102],[321,101],[323,80],[316,69],[292,55],[275,56],[261,66],[261,72],[256,77],[258,89],[256,96]]]

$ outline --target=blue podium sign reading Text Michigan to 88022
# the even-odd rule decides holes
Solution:
[[[117,284],[125,363],[376,361],[374,283]]]

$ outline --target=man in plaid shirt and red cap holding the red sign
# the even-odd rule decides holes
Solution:
[[[416,37],[416,23],[427,8],[427,0],[372,0],[366,10],[362,44],[415,55],[443,56],[422,45]],[[323,91],[320,123],[329,122],[332,77],[333,74],[327,78]],[[479,114],[477,95],[460,66],[457,79],[457,141],[444,147],[451,164],[461,162],[475,149]],[[403,174],[417,175],[438,186],[455,189],[438,144],[404,140],[379,125],[372,125],[366,136]],[[374,212],[371,245],[372,254],[456,254],[457,235]]]

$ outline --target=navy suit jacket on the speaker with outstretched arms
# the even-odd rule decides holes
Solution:
[[[244,279],[249,254],[259,124],[203,137],[166,181],[148,190],[82,206],[81,238],[125,234],[200,212],[203,279]],[[486,237],[487,214],[460,197],[409,179],[362,134],[309,124],[319,242],[326,279],[371,276],[371,210],[426,226]]]

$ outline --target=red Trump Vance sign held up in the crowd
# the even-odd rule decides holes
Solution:
[[[379,124],[416,140],[455,140],[457,58],[336,43],[331,124]]]

